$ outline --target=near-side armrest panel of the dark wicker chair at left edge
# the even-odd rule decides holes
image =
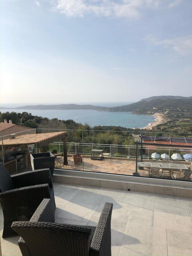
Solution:
[[[29,220],[44,198],[50,198],[48,184],[16,188],[0,193],[4,220],[5,218]]]

